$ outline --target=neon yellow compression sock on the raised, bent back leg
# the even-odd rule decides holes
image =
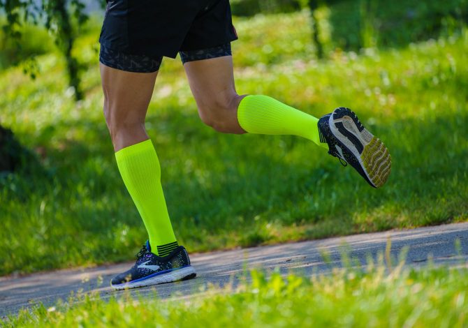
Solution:
[[[243,98],[237,109],[237,119],[248,133],[299,135],[328,150],[328,144],[320,142],[319,119],[269,96],[249,95]]]

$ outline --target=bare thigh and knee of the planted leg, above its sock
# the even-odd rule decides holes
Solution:
[[[158,72],[133,73],[99,64],[104,116],[115,151],[148,139],[145,117]]]

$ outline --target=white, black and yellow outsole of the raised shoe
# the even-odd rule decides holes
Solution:
[[[337,140],[358,160],[367,182],[374,188],[383,186],[392,167],[390,153],[383,142],[367,131],[348,108],[337,108],[328,123]]]

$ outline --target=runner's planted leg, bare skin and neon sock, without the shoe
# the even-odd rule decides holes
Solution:
[[[161,186],[161,167],[145,131],[145,117],[158,74],[133,73],[100,64],[104,115],[124,184],[149,235],[152,253],[167,255],[177,241]]]

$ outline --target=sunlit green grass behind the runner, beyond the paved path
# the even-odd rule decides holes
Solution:
[[[275,33],[279,19],[284,30]],[[165,59],[147,129],[189,251],[467,220],[466,31],[401,50],[337,50],[319,62],[306,13],[235,24],[238,91],[316,117],[353,108],[388,145],[393,172],[374,190],[307,140],[215,133],[198,118],[180,61]],[[20,68],[0,73],[0,122],[41,163],[0,179],[0,274],[129,260],[146,239],[103,121],[97,36],[87,31],[76,48],[88,67],[80,103],[57,54],[39,57],[34,81]]]

